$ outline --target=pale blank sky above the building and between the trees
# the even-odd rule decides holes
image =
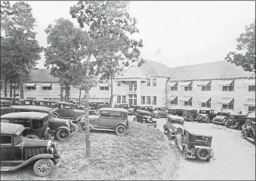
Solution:
[[[78,26],[69,14],[77,1],[26,2],[37,21],[37,41],[44,47],[44,29],[54,20],[63,17]],[[138,20],[135,37],[143,41],[142,58],[175,67],[225,60],[236,50],[245,26],[255,20],[255,1],[131,1],[129,12]],[[42,55],[37,68],[45,68],[44,60]]]

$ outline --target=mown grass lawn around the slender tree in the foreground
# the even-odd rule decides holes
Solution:
[[[91,132],[91,158],[85,155],[85,134],[58,142],[61,165],[51,176],[33,174],[33,165],[1,172],[1,180],[174,180],[180,154],[159,130],[131,122],[125,136]]]

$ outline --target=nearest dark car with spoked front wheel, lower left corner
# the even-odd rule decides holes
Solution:
[[[36,176],[49,176],[61,160],[57,143],[25,138],[24,131],[22,125],[1,123],[1,172],[15,171],[34,163]]]

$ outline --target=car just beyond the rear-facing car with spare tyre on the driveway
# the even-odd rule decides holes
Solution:
[[[177,134],[182,134],[184,127],[184,118],[176,115],[167,115],[166,123],[163,125],[163,132],[167,134],[167,138],[172,140]]]

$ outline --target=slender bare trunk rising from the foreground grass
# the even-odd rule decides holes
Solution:
[[[86,79],[89,77],[89,71],[90,71],[90,59],[91,54],[88,55],[86,60]],[[91,157],[91,140],[90,140],[90,122],[89,122],[89,90],[90,87],[87,84],[85,87],[85,94],[84,94],[84,106],[85,106],[85,127],[86,127],[86,133],[85,133],[85,156]]]

